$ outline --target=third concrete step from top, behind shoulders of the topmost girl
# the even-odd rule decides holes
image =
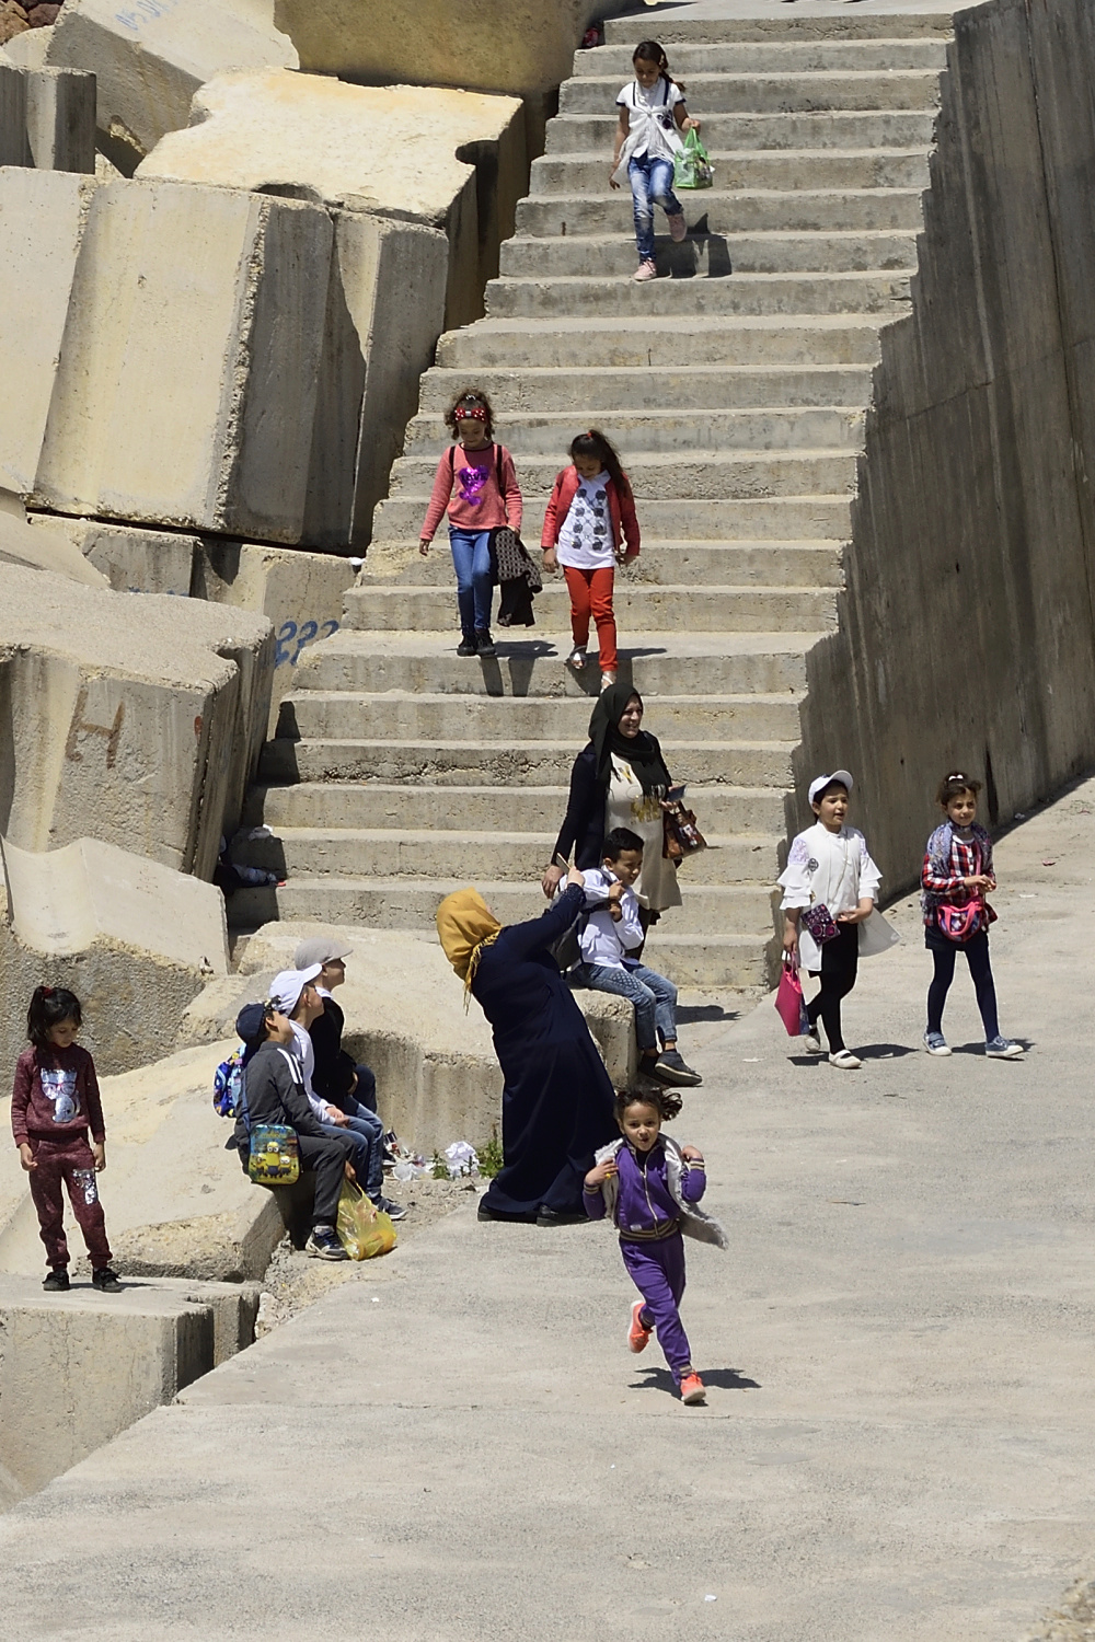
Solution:
[[[583,76],[560,85],[560,113],[611,113],[619,95],[616,77]],[[937,69],[773,74],[690,74],[688,108],[703,120],[709,113],[804,113],[854,108],[936,108]]]

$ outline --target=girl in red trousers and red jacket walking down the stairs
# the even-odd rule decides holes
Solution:
[[[593,614],[601,647],[601,690],[607,690],[616,683],[616,563],[627,565],[639,557],[635,498],[619,456],[594,427],[571,442],[570,460],[571,466],[555,479],[543,514],[543,568],[561,565],[566,576],[575,639],[566,665],[576,673],[588,665]]]

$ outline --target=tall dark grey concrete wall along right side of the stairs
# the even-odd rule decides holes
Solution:
[[[888,893],[919,875],[947,770],[1003,824],[1095,764],[1093,84],[1084,0],[955,18],[913,314],[882,333],[795,760],[799,795],[857,775]]]

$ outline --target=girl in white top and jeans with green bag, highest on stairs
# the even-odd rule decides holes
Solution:
[[[627,166],[635,213],[639,268],[632,279],[657,279],[653,261],[653,207],[665,212],[670,238],[680,245],[688,228],[685,209],[673,192],[673,159],[680,151],[678,131],[698,131],[685,108],[685,87],[670,76],[670,64],[657,39],[644,39],[632,54],[635,79],[624,85],[616,103],[619,126],[609,171],[609,187],[621,186],[619,172]]]

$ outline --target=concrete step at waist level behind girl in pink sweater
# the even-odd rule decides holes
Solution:
[[[538,542],[547,507],[547,484],[540,494],[525,491],[522,535]],[[373,542],[419,539],[428,496],[389,496],[373,516]],[[688,537],[709,542],[791,542],[796,537],[845,542],[850,534],[849,496],[762,496],[717,501],[642,501],[639,509],[644,539]],[[438,547],[447,547],[442,527]]]

